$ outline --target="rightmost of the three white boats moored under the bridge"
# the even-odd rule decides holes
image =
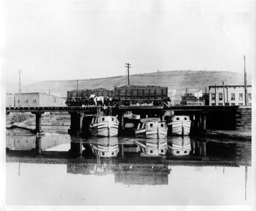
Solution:
[[[190,133],[191,121],[188,116],[174,116],[167,124],[173,135],[186,136]]]

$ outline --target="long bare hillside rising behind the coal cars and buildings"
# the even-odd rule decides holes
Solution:
[[[247,76],[247,84],[251,84],[250,76]],[[224,81],[225,85],[243,84],[243,73],[228,71],[191,71],[177,70],[153,72],[145,74],[135,74],[130,76],[131,85],[161,85],[167,86],[168,89],[175,93],[188,89],[202,89],[209,85],[221,85]],[[114,86],[126,84],[126,76],[116,76],[108,78],[96,79],[80,79],[79,89],[106,88],[113,89]],[[11,88],[11,87],[10,87]],[[7,87],[7,91],[10,91]],[[68,90],[77,88],[77,80],[52,80],[40,81],[26,85],[28,92],[45,92],[65,97]],[[25,91],[24,89],[22,91]]]

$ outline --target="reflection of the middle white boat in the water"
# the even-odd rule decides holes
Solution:
[[[141,156],[164,156],[167,152],[167,139],[148,139],[145,141],[134,142]]]

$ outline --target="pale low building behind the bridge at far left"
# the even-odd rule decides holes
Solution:
[[[14,94],[14,107],[63,107],[65,102],[64,98],[40,92]]]

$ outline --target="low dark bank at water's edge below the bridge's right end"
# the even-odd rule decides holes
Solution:
[[[240,130],[204,130],[203,136],[208,137],[220,137],[235,140],[251,141],[251,130],[240,129]]]

